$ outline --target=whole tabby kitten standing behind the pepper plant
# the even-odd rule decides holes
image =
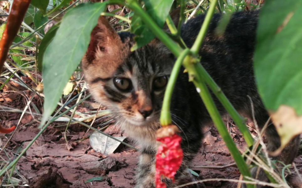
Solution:
[[[204,20],[200,15],[181,27],[181,37],[188,47],[193,45]],[[232,15],[223,36],[215,35],[221,15],[214,15],[209,31],[200,49],[201,64],[221,87],[234,107],[246,117],[255,119],[260,128],[269,119],[268,112],[258,95],[253,74],[253,52],[258,22],[258,11],[237,12]],[[178,19],[174,19],[178,20]],[[82,68],[90,92],[95,100],[112,111],[121,129],[141,147],[137,188],[153,188],[155,159],[159,143],[155,132],[160,127],[159,115],[165,87],[175,62],[173,54],[158,40],[131,52],[134,35],[117,33],[106,18],[100,17],[91,33],[91,42],[82,59]],[[221,114],[226,111],[212,95]],[[188,82],[188,74],[182,68],[175,85],[171,102],[173,123],[179,126],[184,160],[176,183],[165,180],[173,187],[180,183],[180,176],[189,166],[201,146],[202,127],[212,123],[195,86]],[[268,150],[280,146],[279,136],[273,125],[266,130]],[[297,153],[298,139],[292,141],[276,159],[289,164]],[[290,151],[291,155],[288,155]],[[261,180],[266,180],[262,171]]]

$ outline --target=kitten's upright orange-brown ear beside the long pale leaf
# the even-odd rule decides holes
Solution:
[[[91,32],[88,50],[81,62],[86,81],[92,81],[97,75],[112,77],[131,52],[129,41],[125,39],[122,42],[106,17],[101,16]]]

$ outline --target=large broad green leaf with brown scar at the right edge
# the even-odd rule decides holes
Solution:
[[[259,15],[254,69],[271,112],[291,106],[302,115],[302,1],[266,1]]]

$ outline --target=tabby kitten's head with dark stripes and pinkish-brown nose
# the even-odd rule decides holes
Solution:
[[[100,17],[82,68],[96,101],[120,121],[148,126],[159,119],[174,57],[158,39],[131,52],[132,37],[130,33],[118,34]]]

